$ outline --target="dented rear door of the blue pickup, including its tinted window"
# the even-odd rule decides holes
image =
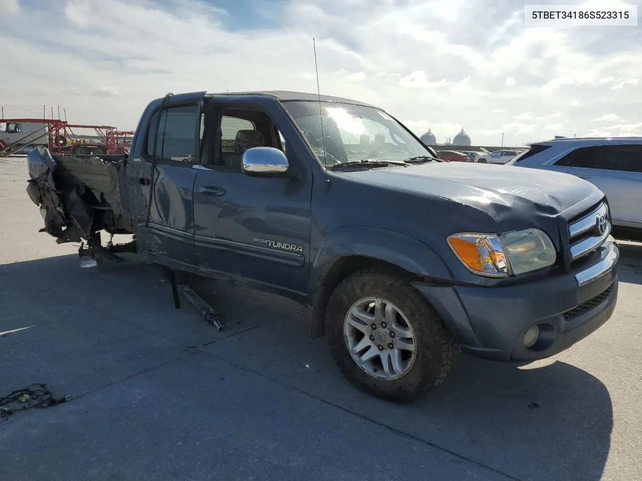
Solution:
[[[127,166],[128,205],[132,207],[139,251],[144,257],[178,269],[198,264],[193,188],[202,140],[204,93],[169,97],[162,110],[160,102],[150,106],[148,121],[141,122],[147,126],[146,131],[137,136]]]

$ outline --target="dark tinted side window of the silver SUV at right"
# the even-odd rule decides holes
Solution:
[[[555,165],[642,172],[642,145],[582,147],[560,158]]]

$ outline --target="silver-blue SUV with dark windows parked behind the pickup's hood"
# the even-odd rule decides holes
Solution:
[[[606,194],[614,233],[619,237],[642,237],[642,137],[537,142],[507,165],[586,179]]]

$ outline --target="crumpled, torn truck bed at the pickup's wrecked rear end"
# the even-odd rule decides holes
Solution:
[[[80,242],[92,232],[129,230],[123,225],[119,172],[124,156],[27,155],[27,193],[40,207],[44,228],[56,242]]]

